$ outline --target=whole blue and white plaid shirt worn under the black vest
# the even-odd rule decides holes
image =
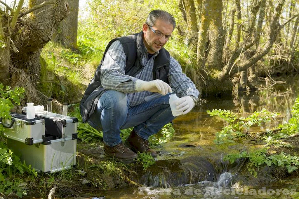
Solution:
[[[127,93],[130,107],[136,106],[144,102],[144,98],[151,92],[142,91],[137,92],[135,82],[138,79],[143,81],[152,81],[152,69],[154,66],[154,58],[158,55],[155,53],[152,58],[148,59],[148,52],[143,46],[142,64],[143,70],[134,77],[125,74],[126,55],[123,51],[123,46],[120,41],[115,41],[106,52],[105,58],[101,66],[101,84],[104,89],[118,90]],[[188,78],[181,69],[180,64],[173,57],[170,56],[170,66],[168,72],[169,85],[173,92],[179,97],[193,95],[198,98],[199,91],[196,89],[194,83]]]

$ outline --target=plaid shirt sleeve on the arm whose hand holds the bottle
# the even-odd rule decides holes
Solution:
[[[170,56],[168,79],[170,87],[180,98],[193,95],[198,100],[199,91],[195,84],[183,73],[181,65],[172,56]]]

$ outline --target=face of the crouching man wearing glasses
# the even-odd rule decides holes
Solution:
[[[157,19],[155,25],[150,27],[147,24],[143,24],[142,27],[144,34],[144,44],[150,54],[155,54],[166,44],[169,36],[173,32],[173,25],[168,21]],[[154,33],[154,31],[156,33]],[[162,33],[162,37],[161,36]],[[160,36],[159,36],[160,34]]]

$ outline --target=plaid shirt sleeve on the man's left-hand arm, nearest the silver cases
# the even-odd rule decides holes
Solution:
[[[120,41],[115,41],[106,52],[101,66],[101,83],[104,89],[125,93],[136,92],[137,78],[125,75],[126,55]]]

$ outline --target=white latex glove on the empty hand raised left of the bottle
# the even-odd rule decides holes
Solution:
[[[138,79],[135,83],[135,88],[138,92],[146,90],[149,92],[158,92],[162,95],[172,92],[170,86],[160,79],[153,81],[143,81]]]

